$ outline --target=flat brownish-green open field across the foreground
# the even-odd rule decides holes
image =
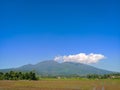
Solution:
[[[44,79],[39,81],[1,80],[0,90],[120,90],[120,79]]]

